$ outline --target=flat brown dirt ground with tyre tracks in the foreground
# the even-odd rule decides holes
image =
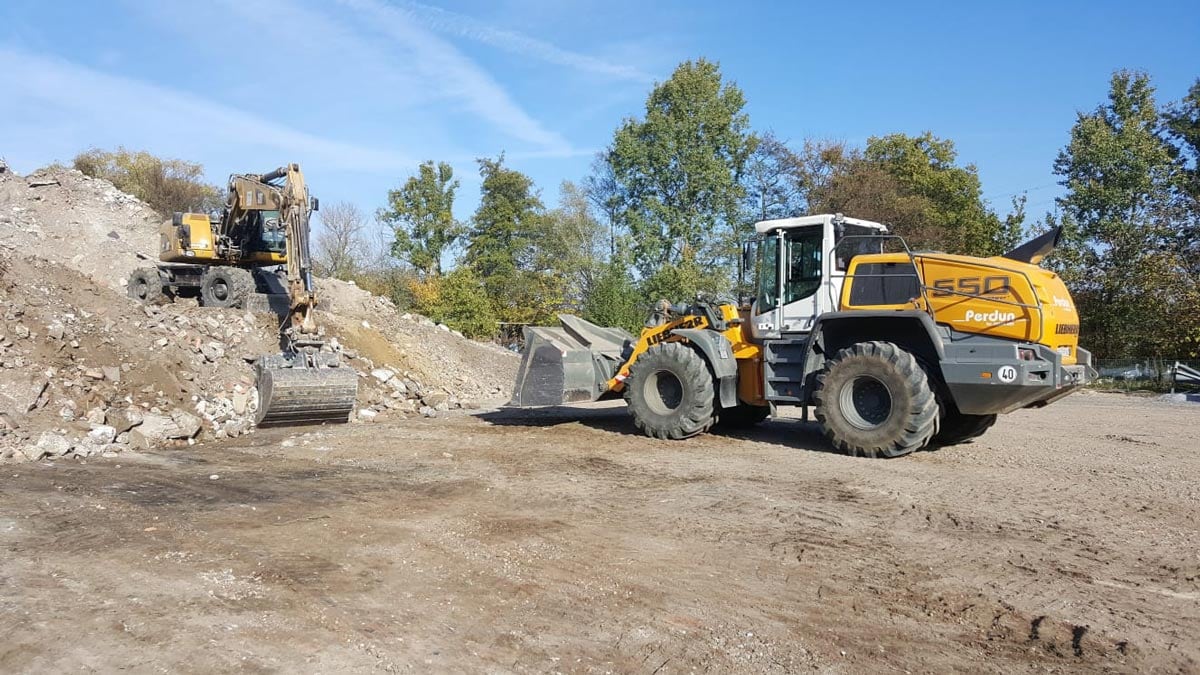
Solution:
[[[0,671],[1200,668],[1200,406],[893,461],[566,414],[5,467]]]

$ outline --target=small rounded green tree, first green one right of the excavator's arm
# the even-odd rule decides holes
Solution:
[[[379,221],[392,228],[392,256],[425,276],[442,276],[442,256],[464,228],[454,217],[458,180],[445,162],[422,162],[398,190],[388,192],[388,208]]]

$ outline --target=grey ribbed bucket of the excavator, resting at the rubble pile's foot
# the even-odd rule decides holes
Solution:
[[[266,354],[258,371],[258,426],[350,420],[359,378],[337,354]]]

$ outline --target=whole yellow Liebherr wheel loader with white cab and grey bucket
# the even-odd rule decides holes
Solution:
[[[841,214],[755,229],[749,305],[662,301],[637,338],[566,315],[527,328],[512,405],[623,396],[656,438],[811,406],[840,450],[894,458],[977,437],[1096,377],[1067,287],[1038,267],[1058,231],[979,258],[913,252]]]

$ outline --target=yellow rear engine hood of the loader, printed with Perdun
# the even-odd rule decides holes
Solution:
[[[954,330],[1024,342],[1039,342],[1075,363],[1079,313],[1056,274],[1002,257],[973,258],[946,253],[913,256],[924,293],[900,305],[853,305],[856,270],[869,263],[908,262],[907,253],[857,256],[847,271],[840,310],[928,310]],[[926,305],[928,303],[928,305]]]

